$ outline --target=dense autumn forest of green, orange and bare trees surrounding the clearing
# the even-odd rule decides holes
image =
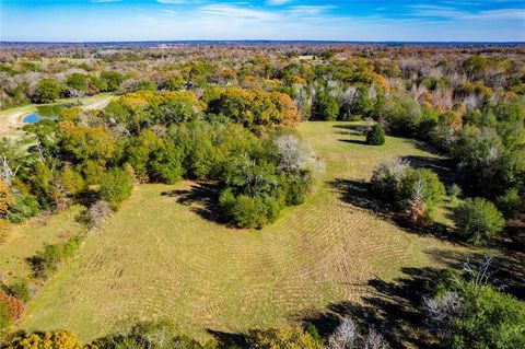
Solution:
[[[520,45],[2,44],[0,86],[8,112],[68,103],[57,118],[23,126],[23,137],[2,135],[0,245],[13,226],[84,208],[82,233],[31,257],[31,278],[1,282],[4,348],[82,348],[69,330],[18,333],[16,324],[141,185],[206,184],[229,228],[257,231],[290,214],[308,200],[323,167],[296,130],[308,120],[354,127],[371,148],[396,137],[432,149],[445,170],[394,158],[373,171],[366,196],[423,233],[440,230],[436,211],[452,202],[454,226],[441,239],[524,256]],[[82,107],[82,98],[100,94],[110,96],[107,105]],[[411,280],[420,346],[523,348],[525,260],[505,278],[498,269],[491,257],[478,258]],[[358,314],[329,330],[304,321],[241,337],[201,344],[168,323],[143,323],[84,348],[387,348],[406,340],[393,335],[392,323]]]

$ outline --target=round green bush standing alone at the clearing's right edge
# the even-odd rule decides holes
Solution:
[[[467,199],[453,212],[459,233],[474,244],[495,237],[505,225],[505,220],[495,206],[482,198]]]

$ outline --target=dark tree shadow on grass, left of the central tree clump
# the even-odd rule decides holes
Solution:
[[[196,183],[189,189],[163,191],[162,196],[173,197],[177,203],[187,206],[190,210],[207,221],[226,224],[219,212],[219,188],[212,183]]]

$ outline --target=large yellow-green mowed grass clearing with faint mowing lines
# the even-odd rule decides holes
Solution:
[[[136,188],[46,284],[20,327],[69,328],[89,341],[155,319],[200,339],[209,329],[285,326],[330,302],[360,302],[372,292],[370,279],[434,265],[432,251],[459,248],[343,200],[335,182],[368,181],[393,156],[436,156],[400,138],[365,146],[341,128],[350,125],[300,125],[324,170],[304,205],[260,231],[226,228],[203,214],[199,201],[178,201],[185,190],[198,191],[194,183]]]

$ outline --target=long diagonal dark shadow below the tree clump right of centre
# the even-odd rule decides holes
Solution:
[[[358,182],[351,179],[336,178],[328,183],[335,190],[338,191],[342,201],[353,205],[355,207],[371,211],[380,218],[387,220],[402,230],[418,234],[432,235],[440,240],[453,241],[462,243],[462,241],[450,231],[448,226],[439,222],[431,222],[424,226],[418,226],[410,223],[402,214],[396,211],[396,208],[390,203],[375,198],[370,193],[370,184],[366,182]]]

